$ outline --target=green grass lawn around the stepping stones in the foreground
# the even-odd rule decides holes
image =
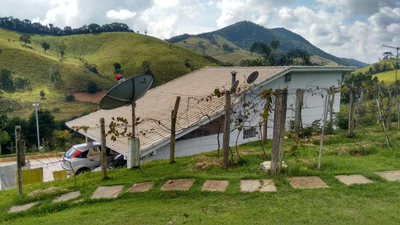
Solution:
[[[344,131],[338,131],[344,133]],[[28,194],[37,189],[60,187],[53,192],[28,197],[17,190],[0,191],[0,221],[3,224],[398,224],[400,221],[400,182],[388,182],[375,171],[400,169],[400,135],[390,131],[391,149],[378,125],[358,129],[354,139],[340,134],[328,135],[322,155],[322,170],[317,171],[318,137],[308,139],[296,156],[290,154],[293,139],[284,142],[284,161],[288,165],[282,175],[266,176],[250,171],[264,161],[258,142],[238,147],[245,163],[234,155],[234,169],[222,171],[216,151],[180,157],[170,165],[167,160],[144,164],[144,169],[111,170],[110,179],[102,181],[100,172],[86,173],[49,183],[24,186]],[[362,148],[364,147],[364,155]],[[302,144],[303,145],[303,144]],[[265,145],[270,159],[270,141]],[[232,148],[235,151],[235,148]],[[230,158],[229,158],[230,159]],[[201,167],[206,169],[201,169]],[[307,169],[300,169],[306,166]],[[240,173],[242,172],[242,173]],[[340,183],[334,175],[361,174],[374,181],[370,184]],[[293,189],[290,176],[320,176],[329,188]],[[242,179],[274,179],[276,192],[240,191]],[[161,191],[168,179],[195,178],[188,191]],[[226,179],[225,192],[202,191],[206,179]],[[125,192],[133,183],[155,181],[145,193]],[[100,185],[124,185],[118,199],[92,200],[90,196]],[[81,191],[81,202],[72,200],[51,203],[61,193]],[[7,211],[12,205],[40,201],[21,213]],[[185,217],[184,214],[188,214]]]

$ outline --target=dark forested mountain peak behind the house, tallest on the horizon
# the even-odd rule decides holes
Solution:
[[[232,44],[233,48],[238,47],[238,48],[240,48],[240,50],[250,50],[250,46],[255,41],[262,41],[262,42],[269,43],[273,39],[278,39],[281,44],[280,47],[278,48],[278,51],[286,52],[293,48],[302,48],[302,49],[307,50],[310,53],[310,55],[319,56],[326,60],[333,61],[339,65],[351,65],[351,66],[357,66],[357,67],[365,66],[365,64],[362,65],[362,62],[357,61],[357,60],[342,59],[342,58],[333,56],[331,54],[328,54],[328,53],[322,51],[321,49],[317,48],[316,46],[312,45],[310,42],[308,42],[308,40],[306,40],[302,36],[300,36],[294,32],[291,32],[290,30],[286,30],[285,28],[267,29],[263,26],[260,26],[253,22],[250,22],[250,21],[237,22],[235,24],[226,26],[219,30],[202,33],[202,34],[197,34],[197,35],[182,34],[179,36],[172,37],[170,39],[166,39],[166,41],[182,45],[182,42],[183,41],[188,42],[189,38],[207,39],[210,43],[214,44],[215,46],[218,46],[219,40],[221,38],[224,38],[226,41],[228,41]],[[205,41],[203,40],[203,42],[205,42]],[[190,47],[190,46],[188,46],[188,47]],[[196,50],[196,48],[191,48],[191,49]],[[200,52],[202,52],[202,51],[200,51]],[[206,54],[206,51],[204,51],[204,53]],[[241,54],[241,56],[243,56],[243,57],[240,60],[249,58],[249,57],[247,57],[246,54]],[[216,57],[216,56],[214,56],[214,57]],[[220,58],[218,58],[218,59],[220,59]],[[235,60],[237,61],[238,59],[235,58]],[[240,62],[240,60],[239,60],[239,62]],[[233,61],[226,61],[226,62],[235,63]],[[321,61],[316,61],[316,63],[318,63],[318,64],[320,62]]]

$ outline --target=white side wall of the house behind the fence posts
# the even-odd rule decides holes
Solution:
[[[294,120],[294,109],[295,109],[295,102],[296,102],[296,94],[294,89],[302,88],[308,89],[312,88],[313,90],[316,89],[317,86],[319,87],[330,87],[330,86],[338,86],[338,80],[342,77],[342,72],[291,72],[292,78],[291,81],[286,82],[286,76],[277,77],[266,84],[262,85],[262,88],[256,89],[254,88],[255,93],[260,93],[264,89],[272,88],[273,90],[278,88],[285,88],[288,87],[290,94],[288,94],[287,100],[287,112],[286,112],[286,121],[290,121],[291,119]],[[240,75],[240,74],[239,74]],[[232,96],[232,98],[234,98]],[[248,101],[249,97],[246,97]],[[265,100],[264,100],[265,101]],[[302,109],[302,123],[304,126],[312,123],[317,119],[323,119],[322,114],[324,113],[324,102],[325,98],[322,98],[321,95],[312,95],[311,93],[305,92],[304,94],[304,103]],[[264,102],[259,102],[258,110],[261,110],[264,107]],[[293,108],[293,110],[290,110]],[[334,112],[338,112],[340,110],[340,93],[337,93],[334,99]],[[246,122],[244,126],[246,127],[255,127],[258,131],[258,123],[261,121],[261,117],[258,115],[253,117],[253,121]],[[270,115],[270,120],[268,121],[268,130],[267,135],[269,138],[272,138],[272,127],[273,127],[273,118],[274,115]],[[328,117],[329,118],[329,117]],[[222,123],[223,124],[223,123]],[[234,126],[232,123],[231,127]],[[187,156],[187,155],[194,155],[203,152],[214,151],[218,149],[218,139],[217,134],[218,132],[215,131],[215,125],[212,126],[205,126],[200,127],[203,131],[208,131],[210,135],[204,137],[194,137],[190,138],[190,133],[188,133],[184,140],[178,140],[175,144],[175,155],[176,157]],[[203,132],[202,131],[202,132]],[[222,132],[222,127],[221,130]],[[250,137],[244,138],[244,133],[246,135],[250,134]],[[239,135],[239,136],[238,136]],[[262,134],[254,135],[252,137],[251,132],[244,132],[239,131],[236,129],[232,131],[230,134],[230,146],[237,144],[242,144],[250,141],[258,141],[259,137]],[[220,149],[222,149],[222,133],[219,136],[220,140]],[[166,144],[158,149],[155,149],[155,152],[152,154],[146,155],[144,157],[144,161],[151,161],[155,159],[168,159],[169,158],[169,151],[170,145]],[[222,154],[222,153],[221,153]]]

